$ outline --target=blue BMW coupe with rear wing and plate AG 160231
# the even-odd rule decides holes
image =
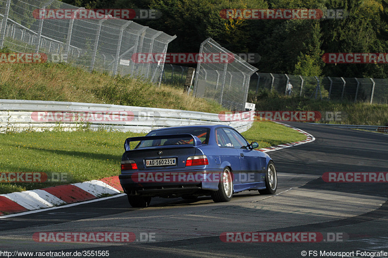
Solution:
[[[226,125],[156,129],[126,139],[119,180],[132,207],[147,207],[151,197],[226,202],[245,190],[274,194],[275,164],[258,145]]]

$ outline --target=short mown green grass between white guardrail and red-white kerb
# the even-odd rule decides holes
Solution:
[[[120,174],[120,160],[127,137],[142,134],[74,131],[21,132],[0,136],[0,173],[65,173],[70,182],[83,182]],[[259,148],[306,139],[291,128],[270,121],[256,121],[243,133]],[[68,182],[68,183],[70,183]],[[0,194],[39,189],[64,182],[0,183]]]

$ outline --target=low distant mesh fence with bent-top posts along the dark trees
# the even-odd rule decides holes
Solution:
[[[288,82],[292,84],[291,96],[388,104],[388,79],[255,73],[249,90],[258,93],[267,89],[287,94]]]

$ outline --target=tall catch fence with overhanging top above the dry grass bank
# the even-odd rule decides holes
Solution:
[[[163,62],[136,63],[134,53],[165,53],[176,38],[133,21],[104,19],[36,19],[37,9],[78,9],[57,0],[0,0],[0,47],[25,53],[67,56],[67,62],[111,75],[162,79]],[[63,61],[63,60],[62,60]]]

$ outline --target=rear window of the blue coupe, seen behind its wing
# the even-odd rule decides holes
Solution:
[[[209,128],[174,128],[163,129],[155,132],[150,132],[147,136],[162,136],[162,135],[179,135],[179,134],[191,134],[198,137],[202,144],[208,144],[209,142]],[[181,145],[181,144],[194,144],[191,137],[177,137],[172,139],[158,139],[158,140],[146,140],[141,141],[135,149],[154,147],[154,146],[167,146],[167,145]]]

